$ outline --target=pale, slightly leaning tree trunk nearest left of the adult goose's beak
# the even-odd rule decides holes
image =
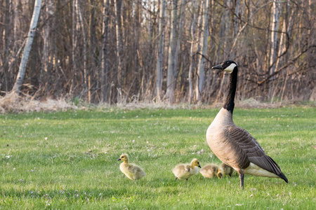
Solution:
[[[197,69],[197,82],[195,84],[195,94],[197,101],[201,101],[201,94],[204,87],[204,61],[206,56],[206,50],[207,50],[207,43],[209,38],[209,6],[210,6],[210,0],[204,0],[204,6],[203,6],[203,23],[202,23],[202,29],[203,29],[203,35],[202,35],[202,55],[199,57],[199,66]]]

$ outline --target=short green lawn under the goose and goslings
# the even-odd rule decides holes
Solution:
[[[0,209],[316,209],[316,109],[235,109],[289,179],[245,175],[175,181],[171,169],[198,158],[218,109],[112,110],[0,116]],[[297,115],[297,116],[296,116]],[[135,140],[133,142],[133,140]],[[204,153],[197,153],[204,150]],[[147,175],[127,179],[128,153]]]

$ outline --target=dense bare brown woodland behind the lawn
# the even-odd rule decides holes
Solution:
[[[13,89],[34,0],[0,1],[0,96]],[[316,100],[316,1],[43,0],[21,92],[88,103]]]

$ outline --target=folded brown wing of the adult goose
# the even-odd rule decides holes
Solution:
[[[258,144],[258,141],[256,141],[254,137],[251,137],[249,132],[234,125],[229,128],[229,138],[235,142],[242,153],[247,155],[249,162],[287,181],[287,178],[282,174],[277,163],[265,154],[263,148]]]

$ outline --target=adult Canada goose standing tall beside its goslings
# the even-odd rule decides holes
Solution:
[[[281,178],[288,183],[287,177],[282,174],[277,163],[265,154],[256,139],[232,121],[237,87],[237,64],[228,60],[213,66],[212,69],[229,72],[230,87],[223,108],[206,132],[206,141],[211,151],[238,172],[241,188],[244,188],[244,174]]]

